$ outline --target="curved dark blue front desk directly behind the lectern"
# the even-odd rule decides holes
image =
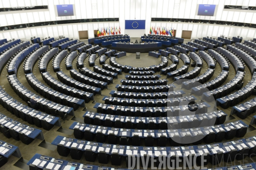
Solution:
[[[116,49],[121,52],[129,53],[148,53],[152,50],[159,50],[162,48],[162,43],[112,43],[112,49]]]

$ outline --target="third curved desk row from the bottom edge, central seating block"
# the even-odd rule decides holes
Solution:
[[[138,120],[139,123],[137,128],[140,127],[140,125],[145,128],[143,123],[144,121],[143,119]],[[208,123],[214,125],[214,122],[209,121]],[[133,138],[134,135],[138,135],[139,140],[141,141],[144,139],[145,145],[147,147],[155,146],[154,139],[160,140],[160,138],[165,138],[161,144],[161,146],[165,147],[167,140],[170,142],[171,146],[179,146],[191,143],[201,144],[203,141],[204,143],[209,144],[212,142],[220,142],[224,138],[226,140],[233,139],[234,137],[241,138],[246,134],[247,127],[248,126],[243,121],[234,121],[228,124],[189,129],[146,130],[112,128],[73,122],[69,129],[74,130],[75,138],[84,138],[87,141],[93,141],[94,138],[96,138],[96,141],[100,143],[105,143],[110,133],[113,133],[116,138],[122,138],[122,140],[124,140],[120,143],[121,145],[130,145],[128,139],[130,141],[133,141],[133,139],[137,140],[137,138]],[[140,144],[140,142],[138,142],[138,144]],[[138,144],[135,146],[138,146]]]

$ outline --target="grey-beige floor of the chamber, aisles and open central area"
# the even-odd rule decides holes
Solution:
[[[132,39],[133,40],[131,40],[131,41],[135,41],[136,39],[140,40],[140,38],[132,38]],[[86,41],[87,40],[85,40],[85,42]],[[161,62],[160,58],[158,58],[158,59],[157,58],[153,58],[151,56],[148,56],[147,54],[141,54],[141,59],[135,59],[135,55],[134,54],[130,54],[130,53],[128,53],[127,56],[125,56],[125,57],[116,59],[116,61],[121,63],[121,64],[124,64],[124,65],[136,66],[136,67],[137,66],[144,67],[144,66],[157,65],[157,64],[159,64]],[[106,63],[109,63],[109,59],[106,61]],[[168,65],[171,65],[171,64],[172,64],[172,62],[169,60],[169,64]],[[99,58],[96,59],[96,65],[101,66],[101,65],[99,65]],[[93,67],[89,67],[89,65],[88,65],[88,58],[84,61],[84,66],[88,67],[90,69],[93,69]],[[178,64],[177,69],[180,68],[181,66],[183,66],[183,62],[180,60],[180,63]],[[73,68],[76,69],[76,59],[73,61]],[[191,71],[192,69],[193,69],[193,67],[189,66],[189,71]],[[202,75],[205,72],[205,70],[207,70],[207,69],[208,69],[208,66],[207,66],[206,62],[204,62],[204,65],[202,67],[201,73],[199,75]],[[61,70],[65,74],[70,76],[70,72],[65,68],[64,60],[61,62]],[[49,65],[47,66],[47,71],[54,78],[58,79],[57,76],[56,76],[56,73],[53,72],[52,61],[49,62]],[[215,68],[214,75],[212,76],[212,78],[209,81],[211,81],[214,78],[216,78],[220,74],[220,72],[221,72],[221,68],[220,68],[219,64],[217,64],[217,66]],[[244,86],[252,78],[252,76],[251,76],[247,66],[246,66],[245,72],[246,72],[246,74],[245,74],[245,77],[244,77]],[[36,78],[38,78],[39,81],[41,81],[43,84],[47,85],[43,81],[43,79],[41,77],[41,74],[40,74],[40,72],[38,70],[38,64],[37,63],[34,66],[33,74],[36,76]],[[157,72],[155,74],[160,74],[160,72]],[[0,76],[0,86],[2,86],[5,89],[5,91],[9,95],[11,95],[13,98],[15,98],[17,101],[20,101],[21,103],[26,104],[12,90],[11,86],[9,85],[9,82],[7,81],[6,75],[7,75],[7,72],[6,72],[6,69],[4,68],[2,70],[1,76]],[[161,75],[161,76],[162,77],[160,79],[165,79],[166,78],[165,75]],[[224,84],[226,84],[227,82],[232,80],[234,78],[234,76],[235,76],[234,68],[233,68],[232,65],[230,65],[229,75],[228,75],[227,80],[224,82]],[[19,68],[18,74],[17,74],[17,78],[19,79],[19,81],[27,89],[29,89],[30,91],[32,91],[32,92],[37,94],[37,92],[35,92],[35,90],[32,89],[32,87],[26,81],[26,78],[25,78],[25,75],[24,75],[24,72],[23,72],[23,63],[20,65],[20,68]],[[20,169],[29,170],[28,169],[29,167],[26,166],[26,161],[31,159],[32,156],[35,155],[35,153],[39,153],[39,154],[45,155],[45,156],[51,156],[51,157],[58,158],[58,159],[64,159],[64,160],[68,160],[68,161],[80,162],[80,163],[83,163],[83,164],[93,164],[93,165],[99,165],[99,166],[126,168],[124,160],[122,161],[122,165],[121,166],[112,166],[110,160],[109,160],[108,164],[99,164],[97,159],[96,159],[95,162],[87,162],[87,161],[85,161],[84,156],[81,158],[81,160],[73,160],[70,157],[70,155],[67,156],[67,157],[59,156],[57,151],[56,151],[56,147],[50,144],[55,139],[55,137],[57,135],[61,135],[61,136],[69,137],[69,138],[74,138],[73,131],[68,129],[70,127],[70,125],[74,121],[79,121],[79,122],[82,123],[83,122],[83,117],[82,116],[84,115],[84,113],[86,111],[96,112],[96,109],[94,109],[93,106],[96,103],[104,103],[104,101],[102,101],[102,98],[104,96],[106,96],[106,95],[109,95],[111,90],[116,90],[115,86],[116,86],[116,84],[120,84],[121,79],[125,79],[125,73],[124,72],[123,72],[122,75],[118,75],[118,79],[114,79],[113,84],[108,85],[108,89],[102,90],[102,95],[95,95],[95,97],[94,97],[95,101],[90,101],[89,103],[87,103],[86,104],[86,108],[81,108],[80,107],[78,110],[75,111],[75,116],[68,116],[69,120],[65,121],[65,123],[63,123],[63,121],[62,121],[61,122],[61,125],[62,125],[61,127],[56,127],[55,126],[51,130],[46,131],[46,130],[44,130],[42,128],[36,127],[35,125],[29,125],[31,127],[35,127],[35,128],[41,129],[43,131],[44,138],[45,138],[44,141],[35,139],[31,144],[25,145],[21,141],[15,141],[13,138],[9,138],[8,139],[2,133],[0,133],[0,139],[1,140],[6,141],[6,142],[8,142],[10,144],[14,144],[14,145],[18,146],[19,149],[20,149],[20,152],[22,154],[22,158],[20,158],[20,159],[14,157],[14,156],[9,157],[8,162],[3,167],[1,167],[0,169],[1,170],[20,170]],[[169,78],[168,81],[169,81],[168,82],[169,84],[172,84],[172,82],[173,82],[171,78]],[[39,94],[37,94],[37,95],[39,95]],[[245,101],[249,101],[252,98],[255,98],[255,96],[251,95]],[[232,108],[230,107],[228,109],[222,109],[221,107],[218,107],[218,109],[221,109],[225,113],[227,113],[227,115],[230,115],[230,111],[231,111]],[[12,118],[12,119],[15,119],[16,121],[19,121],[20,123],[28,124],[27,122],[22,121],[20,118],[17,118],[15,115],[12,115],[10,112],[8,112],[1,105],[0,105],[0,112],[3,113],[6,116]],[[249,125],[250,124],[250,120],[251,120],[253,115],[255,115],[255,114],[252,114],[252,115],[248,116],[243,121],[247,125]],[[236,115],[228,116],[225,123],[229,123],[229,122],[233,122],[233,121],[237,121],[237,120],[240,120],[240,119]],[[256,127],[255,125],[250,126],[250,128],[248,129],[247,134],[244,136],[244,138],[256,135],[255,127]],[[233,141],[233,140],[237,140],[237,139],[239,139],[239,138],[233,138],[232,140],[225,140],[224,139],[224,141]],[[143,143],[141,144],[141,146],[143,146]],[[244,163],[250,163],[250,162],[255,162],[255,161],[256,161],[256,158],[251,158],[250,159],[250,158],[247,157],[247,158],[244,159]],[[234,162],[230,162],[230,163],[221,162],[221,164],[217,165],[217,167],[219,167],[219,166],[221,166],[221,167],[222,166],[231,166],[231,165],[235,165],[235,164],[241,164],[241,162],[239,162],[239,161],[234,161]],[[215,166],[212,166],[210,163],[207,165],[208,169],[209,168],[213,168],[213,167],[215,167]],[[140,168],[140,169],[142,169],[142,168]]]

